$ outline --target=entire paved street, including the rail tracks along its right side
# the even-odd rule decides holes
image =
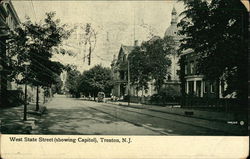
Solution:
[[[56,95],[47,105],[34,134],[89,135],[221,135],[223,132],[193,126],[161,117],[148,110],[126,108]],[[170,115],[171,116],[171,115]]]

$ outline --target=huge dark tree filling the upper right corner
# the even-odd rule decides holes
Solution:
[[[186,10],[180,51],[192,49],[199,56],[198,71],[212,81],[225,80],[225,95],[233,92],[247,99],[248,12],[236,0],[182,0]]]

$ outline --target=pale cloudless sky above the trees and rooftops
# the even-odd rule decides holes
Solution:
[[[148,40],[149,30],[154,35],[163,37],[170,25],[173,6],[177,13],[184,10],[180,2],[165,1],[13,1],[13,5],[22,22],[29,16],[32,21],[39,22],[46,12],[55,11],[61,23],[84,25],[91,23],[97,32],[97,44],[91,59],[91,65],[83,60],[86,52],[77,40],[66,41],[67,48],[75,52],[75,56],[54,56],[64,64],[74,64],[82,72],[101,64],[110,67],[114,55],[117,57],[121,44],[133,45]],[[73,35],[72,35],[73,37]],[[71,47],[72,46],[72,47]]]

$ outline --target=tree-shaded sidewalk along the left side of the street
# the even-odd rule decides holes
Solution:
[[[40,104],[40,108],[44,107]],[[36,105],[27,105],[27,112],[34,111]],[[2,134],[31,134],[36,127],[36,122],[41,116],[27,113],[27,121],[23,121],[24,106],[0,109],[0,133]]]

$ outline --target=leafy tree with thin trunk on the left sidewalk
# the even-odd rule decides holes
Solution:
[[[57,82],[56,77],[64,68],[61,63],[51,61],[53,54],[58,53],[54,48],[72,32],[54,17],[55,12],[46,13],[43,23],[33,23],[27,18],[9,40],[9,46],[12,46],[11,64],[14,68],[11,76],[15,77],[18,83],[28,82],[37,87],[36,110],[39,109],[39,86],[51,87]],[[20,79],[17,75],[22,75],[23,78]]]

